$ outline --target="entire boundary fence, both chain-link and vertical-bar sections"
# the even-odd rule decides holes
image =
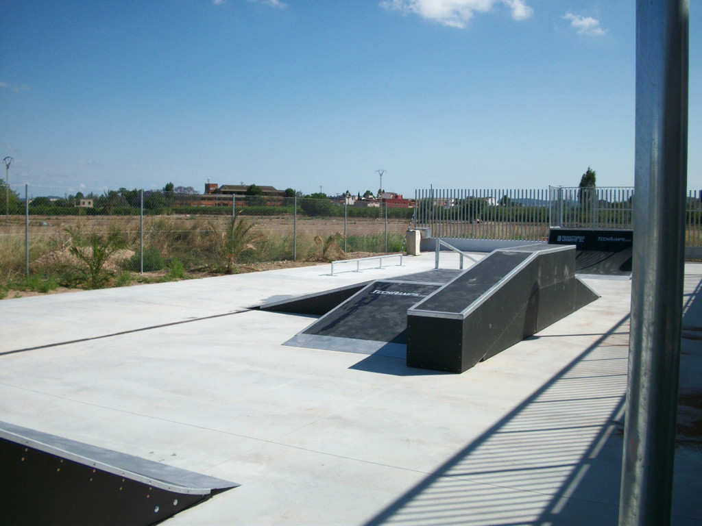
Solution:
[[[251,227],[236,264],[340,259],[402,250],[409,226],[425,236],[545,241],[551,227],[632,227],[633,188],[423,189],[410,208],[300,196],[233,196],[151,190],[82,193],[0,182],[0,285],[72,264],[70,249],[121,238],[114,271],[232,264],[232,224]],[[687,196],[686,245],[702,247],[699,191]],[[241,220],[241,221],[239,221]],[[245,246],[246,250],[239,250]],[[359,254],[359,252],[362,252]]]

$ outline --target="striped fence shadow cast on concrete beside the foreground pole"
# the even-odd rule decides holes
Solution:
[[[366,526],[616,525],[627,357],[625,316]]]

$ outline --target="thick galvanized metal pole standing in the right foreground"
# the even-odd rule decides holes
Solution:
[[[635,203],[621,526],[668,525],[687,187],[687,0],[637,0]]]

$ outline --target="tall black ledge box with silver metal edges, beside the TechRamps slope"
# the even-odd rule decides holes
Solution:
[[[575,247],[496,250],[408,311],[407,365],[463,372],[597,299]]]

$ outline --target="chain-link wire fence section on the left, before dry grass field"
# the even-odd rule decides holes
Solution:
[[[0,184],[0,281],[75,264],[71,248],[90,245],[93,238],[103,244],[121,241],[124,248],[108,264],[114,272],[173,266],[222,271],[232,263],[323,261],[340,259],[342,252],[402,250],[412,210],[366,204],[371,206],[299,196],[140,189],[94,194],[29,185],[8,192]]]

